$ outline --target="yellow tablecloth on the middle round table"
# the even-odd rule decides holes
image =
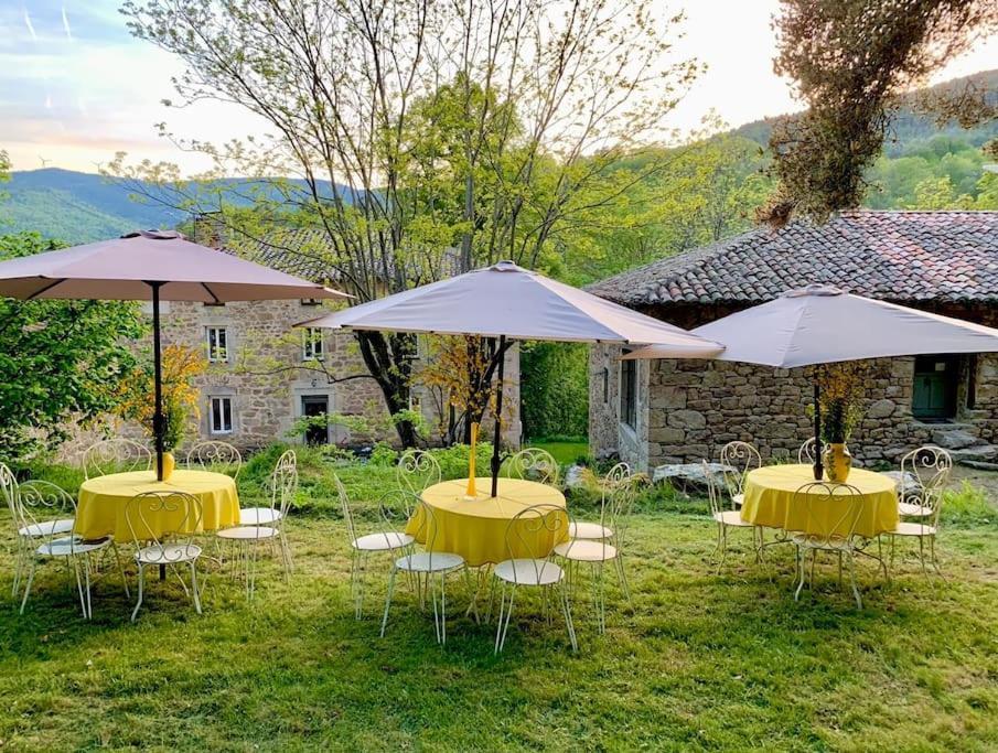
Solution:
[[[506,533],[517,513],[541,504],[565,508],[561,492],[533,481],[500,478],[496,497],[489,496],[492,478],[476,478],[475,487],[475,498],[465,499],[466,478],[433,484],[422,493],[422,501],[433,510],[436,531],[428,530],[423,514],[418,510],[406,526],[406,533],[419,538],[420,544],[431,540],[433,551],[461,555],[472,567],[494,564],[511,557]],[[567,519],[551,526],[538,526],[535,521],[527,527],[509,536],[513,557],[546,557],[556,544],[568,538]]]

